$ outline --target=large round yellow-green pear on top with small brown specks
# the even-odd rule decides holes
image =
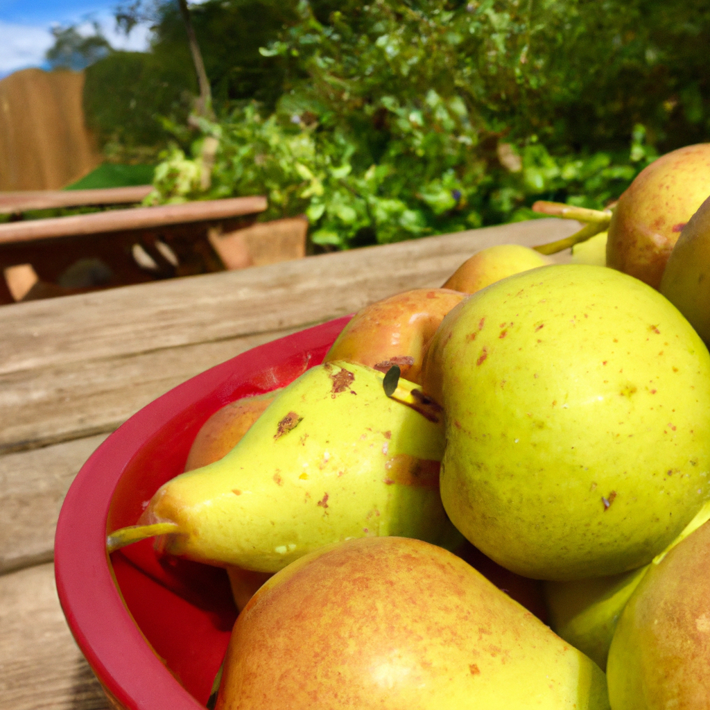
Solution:
[[[444,318],[431,371],[444,507],[513,572],[641,567],[710,496],[710,354],[635,278],[567,264],[499,281]]]

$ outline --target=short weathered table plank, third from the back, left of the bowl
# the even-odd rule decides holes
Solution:
[[[0,456],[0,574],[53,559],[64,496],[106,436]]]

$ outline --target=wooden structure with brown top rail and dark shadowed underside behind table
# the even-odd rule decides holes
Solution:
[[[2,200],[0,194],[0,209]],[[32,266],[44,287],[39,297],[76,293],[57,282],[72,264],[87,257],[98,259],[108,271],[104,288],[221,271],[224,266],[209,246],[211,231],[251,224],[266,207],[266,197],[253,195],[0,224],[0,304],[14,299],[2,274],[23,264]],[[171,260],[161,246],[169,250]],[[136,262],[136,247],[152,261],[153,270]]]

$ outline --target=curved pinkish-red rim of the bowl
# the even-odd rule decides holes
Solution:
[[[234,381],[239,371],[263,371],[269,359],[329,346],[349,319],[262,344],[171,389],[109,435],[72,482],[55,533],[57,591],[77,645],[114,702],[131,710],[204,710],[155,654],[116,585],[105,540],[111,498],[126,467],[176,412]]]

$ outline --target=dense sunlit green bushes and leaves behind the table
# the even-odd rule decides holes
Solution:
[[[171,12],[153,52],[177,58],[183,42],[187,62]],[[163,122],[177,143],[153,200],[263,192],[266,217],[305,211],[323,246],[521,219],[537,198],[601,207],[656,151],[709,131],[710,68],[694,48],[710,40],[710,9],[691,0],[208,0],[194,12],[220,117],[199,136]],[[202,190],[207,135],[219,150]]]

